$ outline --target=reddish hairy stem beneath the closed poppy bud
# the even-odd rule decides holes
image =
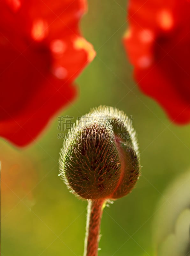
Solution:
[[[88,200],[84,256],[98,256],[100,223],[105,200]]]

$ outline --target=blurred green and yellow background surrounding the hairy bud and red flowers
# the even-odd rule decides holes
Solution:
[[[58,116],[75,121],[101,104],[134,118],[143,168],[132,193],[104,209],[99,255],[155,255],[152,233],[157,230],[152,222],[157,203],[190,165],[190,126],[172,124],[135,86],[121,42],[126,28],[126,0],[89,1],[82,31],[97,56],[76,81],[77,100],[27,148],[0,140],[3,256],[83,255],[87,203],[70,194],[58,177],[63,142],[57,138]]]

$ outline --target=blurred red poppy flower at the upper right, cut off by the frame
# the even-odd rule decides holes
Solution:
[[[190,1],[130,0],[124,44],[140,89],[172,121],[190,121]]]

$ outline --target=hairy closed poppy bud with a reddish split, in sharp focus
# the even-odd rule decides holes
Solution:
[[[100,106],[81,117],[68,133],[60,157],[60,175],[85,199],[127,195],[140,171],[135,132],[116,108]]]

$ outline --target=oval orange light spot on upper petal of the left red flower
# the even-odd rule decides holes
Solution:
[[[47,27],[47,22],[44,20],[35,20],[31,31],[32,38],[37,41],[43,40],[48,33]]]

